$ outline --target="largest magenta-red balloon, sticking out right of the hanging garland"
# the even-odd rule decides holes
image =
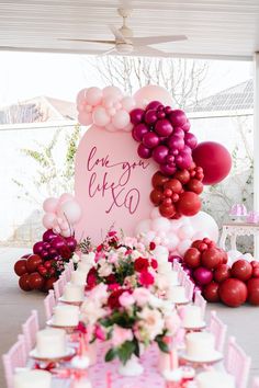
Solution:
[[[192,158],[198,166],[203,168],[203,184],[219,183],[232,169],[230,153],[218,142],[200,142],[193,149]]]

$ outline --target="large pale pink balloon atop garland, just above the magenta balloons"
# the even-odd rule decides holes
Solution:
[[[164,105],[172,105],[173,101],[170,93],[158,85],[148,84],[139,89],[135,94],[136,106],[142,106],[143,101],[149,103],[150,101],[160,101]]]

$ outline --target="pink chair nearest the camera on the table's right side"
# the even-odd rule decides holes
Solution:
[[[246,388],[251,358],[236,344],[234,336],[230,336],[228,340],[227,354],[224,361],[226,372],[235,377],[237,388]]]

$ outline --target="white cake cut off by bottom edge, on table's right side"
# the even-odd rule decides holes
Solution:
[[[203,372],[195,380],[198,388],[235,388],[234,376],[223,372]]]

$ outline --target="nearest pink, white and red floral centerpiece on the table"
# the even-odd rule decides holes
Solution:
[[[169,352],[166,336],[179,329],[179,317],[172,304],[159,299],[145,287],[117,287],[112,293],[99,284],[81,307],[81,319],[91,332],[92,341],[108,341],[105,361],[117,357],[123,365],[140,351],[157,343]]]

